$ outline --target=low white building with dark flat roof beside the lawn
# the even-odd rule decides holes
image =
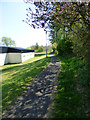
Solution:
[[[21,63],[34,57],[34,50],[0,46],[0,66],[8,63]]]

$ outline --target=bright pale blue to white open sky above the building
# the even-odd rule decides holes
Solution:
[[[36,42],[46,45],[43,29],[33,29],[22,22],[26,18],[26,9],[29,6],[30,3],[26,4],[23,0],[0,0],[0,39],[3,36],[10,37],[15,40],[17,47],[24,48],[35,45]]]

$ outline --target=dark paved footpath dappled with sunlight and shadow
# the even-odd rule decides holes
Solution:
[[[21,95],[11,110],[3,118],[47,118],[53,100],[56,76],[60,71],[60,61],[55,56],[30,89]],[[49,116],[50,117],[50,116]]]

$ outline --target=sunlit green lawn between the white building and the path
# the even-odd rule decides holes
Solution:
[[[38,54],[34,58],[20,64],[8,64],[2,66],[2,111],[16,101],[18,96],[25,92],[26,88],[33,83],[33,79],[51,61],[45,54]]]

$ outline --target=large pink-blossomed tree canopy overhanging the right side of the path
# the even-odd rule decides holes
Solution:
[[[89,2],[34,2],[34,5],[36,7],[36,13],[34,13],[31,8],[27,9],[28,14],[25,22],[28,23],[33,28],[43,27],[46,29],[48,26],[51,29],[51,32],[53,33],[51,34],[52,43],[58,42],[57,33],[60,30],[61,26],[63,33],[66,32],[66,28],[67,28],[69,36],[72,33],[70,39],[71,42],[73,42],[72,44],[73,52],[76,52],[77,55],[79,54],[82,55],[81,51],[82,48],[84,48],[83,49],[84,54],[82,55],[82,57],[85,57],[85,59],[89,61],[90,3]],[[79,30],[76,27],[77,24]],[[75,27],[76,30],[73,29]],[[84,31],[86,34],[84,33]],[[77,33],[80,34],[78,35],[78,39],[77,39]],[[79,41],[82,44],[79,44]]]

